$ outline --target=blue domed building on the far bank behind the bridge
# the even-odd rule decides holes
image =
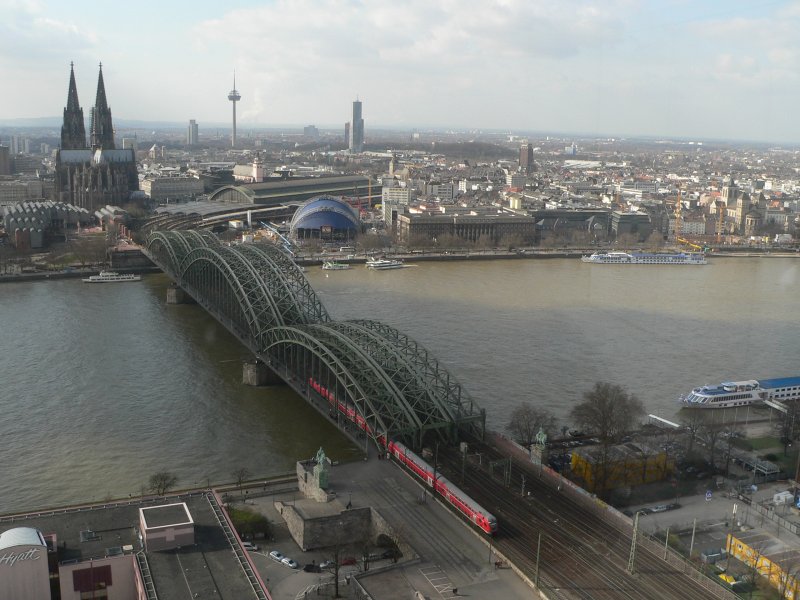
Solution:
[[[290,235],[296,240],[348,241],[361,231],[358,212],[341,198],[317,196],[292,217]]]

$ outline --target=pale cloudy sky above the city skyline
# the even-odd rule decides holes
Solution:
[[[800,142],[800,0],[0,0],[0,119]]]

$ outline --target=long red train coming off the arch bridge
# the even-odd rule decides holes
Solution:
[[[325,386],[318,383],[313,377],[309,377],[308,384],[311,389],[328,401],[332,409],[338,410],[349,421],[355,423],[359,429],[370,433],[369,425],[367,425],[364,417],[356,412],[355,407],[348,406],[345,402],[337,400]],[[390,455],[394,456],[398,462],[419,477],[425,485],[433,488],[436,493],[449,502],[470,523],[489,534],[497,531],[497,519],[494,515],[475,502],[441,473],[436,473],[433,467],[409,450],[404,444],[389,440],[387,446],[386,439],[382,435],[378,436],[377,440]]]

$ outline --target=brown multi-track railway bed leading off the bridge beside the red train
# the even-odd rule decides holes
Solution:
[[[538,467],[512,459],[506,481],[485,466],[467,462],[456,449],[439,452],[439,467],[498,519],[493,540],[531,580],[541,534],[539,583],[549,598],[609,600],[701,600],[717,598],[680,570],[637,546],[634,574],[627,571],[631,532],[592,511],[540,477]],[[470,441],[470,453],[489,461],[503,458],[486,443]],[[523,491],[523,477],[525,495]]]

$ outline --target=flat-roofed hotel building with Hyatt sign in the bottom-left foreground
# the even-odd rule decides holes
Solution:
[[[0,531],[3,599],[269,597],[212,493],[7,516]]]

